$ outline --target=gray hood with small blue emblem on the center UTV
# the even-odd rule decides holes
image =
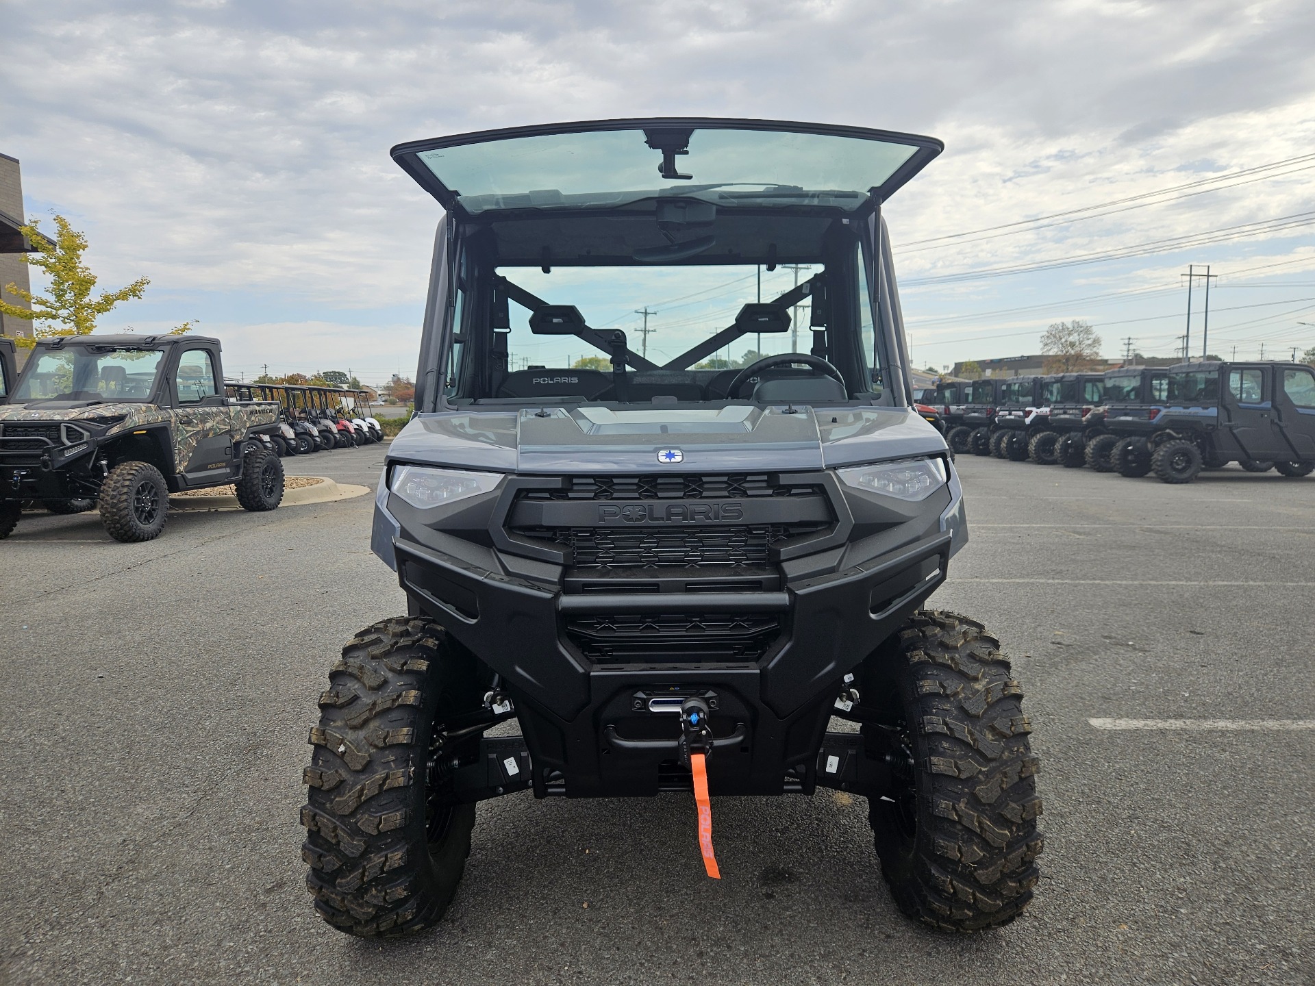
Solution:
[[[518,473],[807,471],[945,451],[907,408],[601,406],[417,415],[393,461]],[[659,454],[675,452],[675,456]]]

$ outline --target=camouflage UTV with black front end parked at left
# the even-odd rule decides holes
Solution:
[[[164,527],[168,494],[233,482],[247,510],[283,500],[271,446],[279,406],[224,396],[220,342],[83,335],[37,343],[0,406],[0,538],[24,501],[53,513],[100,505],[121,542]]]

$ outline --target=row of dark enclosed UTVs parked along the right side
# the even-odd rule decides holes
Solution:
[[[1298,363],[1180,363],[1105,373],[944,383],[931,400],[956,454],[1090,467],[1164,482],[1237,463],[1315,469],[1315,369]]]

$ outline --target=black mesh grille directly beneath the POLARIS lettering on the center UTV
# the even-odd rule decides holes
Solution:
[[[526,527],[571,551],[575,568],[765,568],[771,547],[826,525],[734,527]]]

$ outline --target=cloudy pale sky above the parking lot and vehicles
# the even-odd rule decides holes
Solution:
[[[886,213],[918,364],[1035,352],[1060,318],[1106,355],[1170,355],[1189,263],[1219,275],[1211,351],[1315,346],[1308,0],[0,0],[0,153],[29,216],[84,230],[104,284],[151,277],[104,326],[200,319],[247,379],[414,371],[438,206],[393,143],[655,114],[942,138]]]

